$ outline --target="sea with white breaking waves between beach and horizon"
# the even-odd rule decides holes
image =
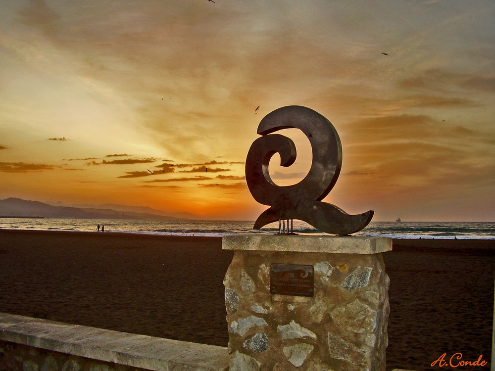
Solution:
[[[0,229],[96,232],[127,232],[162,235],[216,236],[232,234],[275,234],[278,223],[253,230],[252,221],[132,220],[0,218]],[[286,227],[287,228],[287,227]],[[307,223],[294,220],[292,231],[302,235],[326,235]],[[391,238],[495,239],[495,222],[371,222],[356,236]]]

